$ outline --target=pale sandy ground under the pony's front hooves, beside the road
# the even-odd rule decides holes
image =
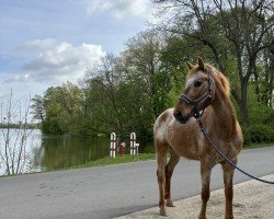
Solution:
[[[262,178],[274,181],[274,174]],[[192,219],[198,218],[201,197],[178,200],[176,207],[168,208],[168,217],[159,216],[158,207],[137,211],[118,219]],[[235,185],[233,212],[236,219],[271,219],[274,218],[274,185],[248,181]],[[207,218],[224,219],[225,195],[224,188],[212,192],[207,207]]]

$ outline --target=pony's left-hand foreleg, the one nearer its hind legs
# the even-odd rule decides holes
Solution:
[[[199,219],[206,218],[206,205],[210,196],[210,174],[212,174],[212,163],[207,160],[201,161],[201,176],[202,176],[202,208],[199,211]]]

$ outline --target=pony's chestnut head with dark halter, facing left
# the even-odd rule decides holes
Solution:
[[[229,95],[229,84],[224,74],[198,57],[197,65],[187,62],[189,73],[185,88],[179,96],[173,115],[178,122],[185,124],[192,116],[198,117],[215,100],[216,83]]]

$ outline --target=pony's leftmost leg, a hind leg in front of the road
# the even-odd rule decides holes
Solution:
[[[167,165],[167,153],[168,145],[155,140],[157,151],[157,176],[159,184],[159,207],[160,215],[167,216],[165,204],[164,204],[164,185],[165,185],[165,165]]]

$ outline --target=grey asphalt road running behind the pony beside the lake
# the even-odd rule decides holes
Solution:
[[[239,166],[256,176],[274,173],[274,147],[244,150]],[[174,199],[199,194],[199,163],[182,159],[172,177]],[[249,177],[236,173],[235,183]],[[212,189],[222,187],[221,168]],[[0,178],[1,219],[113,218],[158,205],[156,161]]]

